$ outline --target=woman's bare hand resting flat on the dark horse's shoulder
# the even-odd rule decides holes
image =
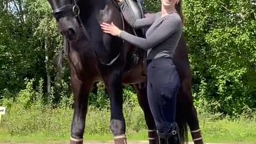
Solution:
[[[100,26],[104,33],[111,34],[113,36],[120,35],[121,30],[118,27],[116,27],[113,22],[111,22],[111,25],[108,23],[102,22]]]

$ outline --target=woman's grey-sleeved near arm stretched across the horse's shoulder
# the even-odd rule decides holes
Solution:
[[[165,41],[175,31],[182,30],[182,22],[179,17],[168,17],[163,23],[147,38],[133,36],[126,31],[121,31],[119,36],[127,42],[140,47],[143,50],[148,50],[159,43]]]

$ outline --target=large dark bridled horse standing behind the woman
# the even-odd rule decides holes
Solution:
[[[104,34],[101,22],[114,22],[128,33],[143,36],[141,30],[127,25],[113,0],[48,0],[58,27],[65,36],[64,52],[70,66],[71,87],[74,93],[74,116],[70,143],[83,143],[88,95],[95,82],[103,81],[111,102],[110,129],[115,143],[126,143],[123,116],[122,85],[133,84],[139,105],[148,126],[149,143],[158,143],[154,118],[146,93],[145,51]],[[80,10],[79,10],[80,7]],[[61,51],[61,54],[63,52]],[[187,124],[194,143],[203,143],[197,112],[191,93],[191,72],[185,38],[182,36],[174,54],[174,64],[181,79],[178,94],[177,123],[182,143],[187,140]],[[60,61],[61,63],[61,61]]]

